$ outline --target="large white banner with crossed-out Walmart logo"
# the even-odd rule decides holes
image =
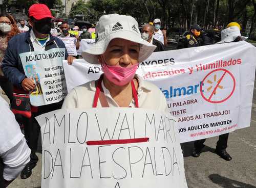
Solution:
[[[219,136],[250,126],[255,49],[241,41],[155,52],[137,73],[163,92],[181,142]],[[83,60],[63,65],[69,91],[102,74]]]

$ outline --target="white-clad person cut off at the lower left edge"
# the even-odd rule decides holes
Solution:
[[[3,172],[0,187],[6,187],[29,163],[31,151],[9,104],[1,96],[0,112],[0,171]]]

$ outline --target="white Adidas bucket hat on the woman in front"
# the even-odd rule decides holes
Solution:
[[[98,55],[105,52],[111,40],[121,38],[140,45],[139,63],[154,52],[156,46],[141,38],[138,22],[132,16],[119,14],[103,15],[96,24],[95,44],[82,51],[82,58],[89,63],[99,64]]]

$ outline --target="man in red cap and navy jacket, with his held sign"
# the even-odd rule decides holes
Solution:
[[[32,169],[36,166],[38,157],[37,142],[40,127],[35,117],[50,111],[61,108],[64,93],[58,95],[59,100],[47,102],[46,96],[49,92],[38,92],[38,84],[44,85],[44,80],[61,80],[65,82],[62,60],[73,61],[73,57],[68,57],[65,44],[51,35],[52,14],[44,4],[34,4],[29,8],[29,23],[32,29],[13,37],[8,44],[5,58],[2,64],[4,74],[9,78],[14,87],[30,94],[31,118],[24,118],[25,138],[31,149],[30,163],[24,168],[20,177],[26,179],[31,176]],[[33,68],[32,68],[33,67]],[[34,72],[28,72],[27,70]],[[36,76],[35,76],[36,75]],[[57,79],[61,76],[61,79]],[[37,78],[37,80],[35,79]],[[41,81],[39,81],[41,80]],[[52,81],[51,81],[52,82]],[[52,87],[50,84],[49,87]],[[64,87],[60,88],[62,91]],[[36,106],[34,108],[34,106]],[[32,110],[31,110],[32,111]]]

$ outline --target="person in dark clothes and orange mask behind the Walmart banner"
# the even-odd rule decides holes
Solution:
[[[185,48],[203,45],[202,29],[198,24],[191,26],[189,33],[185,37]]]

